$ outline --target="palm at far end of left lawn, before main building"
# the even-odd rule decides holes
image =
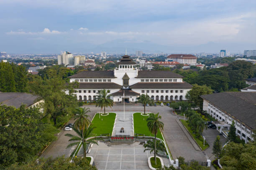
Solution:
[[[104,114],[106,114],[105,107],[112,107],[113,106],[113,100],[110,99],[111,94],[109,90],[100,90],[98,95],[96,96],[96,107],[100,107],[101,109],[104,107]]]

